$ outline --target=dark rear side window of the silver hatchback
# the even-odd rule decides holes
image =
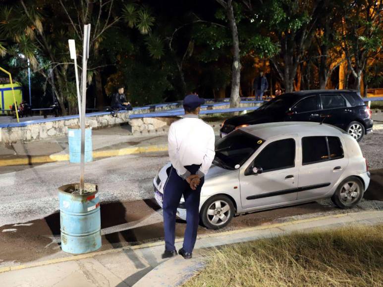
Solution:
[[[343,148],[338,137],[302,138],[302,165],[342,158]]]

